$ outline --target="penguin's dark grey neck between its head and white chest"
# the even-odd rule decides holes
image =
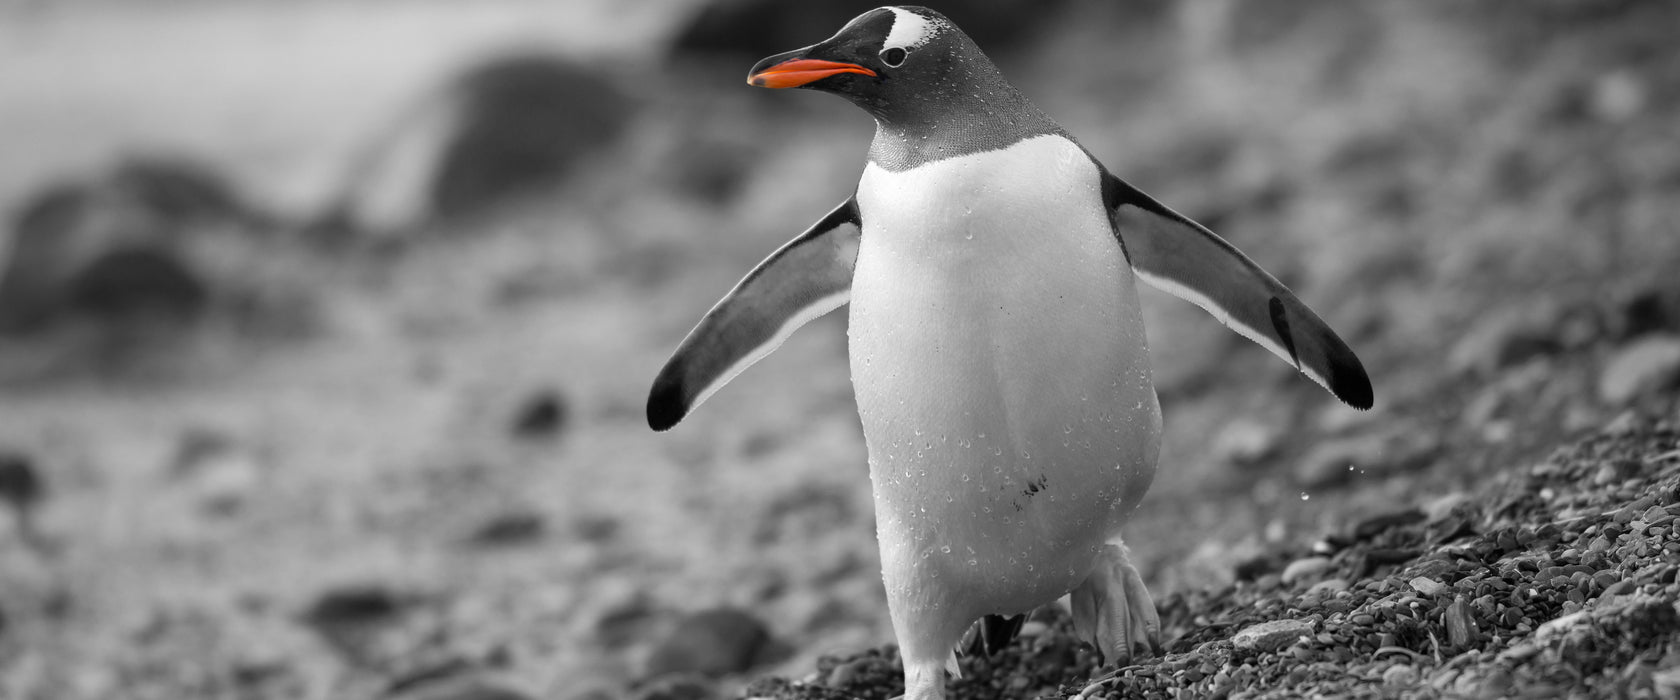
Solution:
[[[1048,116],[1010,86],[995,67],[978,76],[953,76],[912,101],[874,109],[875,141],[869,161],[889,171],[971,153],[996,151],[1023,139],[1062,134]]]

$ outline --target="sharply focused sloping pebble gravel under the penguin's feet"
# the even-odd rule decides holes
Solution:
[[[1164,655],[1097,668],[1060,608],[995,658],[964,658],[963,698],[1631,697],[1680,693],[1680,426],[1620,426],[1473,494],[1381,514],[1287,566],[1159,601]],[[1100,671],[1109,680],[1090,685]],[[749,697],[889,698],[890,646],[825,658]]]

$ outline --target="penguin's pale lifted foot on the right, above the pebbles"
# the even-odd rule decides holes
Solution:
[[[1070,603],[1074,633],[1095,646],[1105,663],[1126,666],[1134,651],[1139,656],[1159,651],[1161,616],[1126,546],[1107,544],[1097,552],[1097,566],[1072,591]]]

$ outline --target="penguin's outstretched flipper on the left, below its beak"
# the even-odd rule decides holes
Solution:
[[[748,272],[665,361],[647,398],[647,425],[677,425],[800,326],[845,306],[860,222],[857,200],[847,198]]]

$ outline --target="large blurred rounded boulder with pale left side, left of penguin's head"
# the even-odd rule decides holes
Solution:
[[[396,114],[351,163],[319,233],[486,213],[559,181],[612,146],[632,116],[596,67],[548,54],[489,60]]]

